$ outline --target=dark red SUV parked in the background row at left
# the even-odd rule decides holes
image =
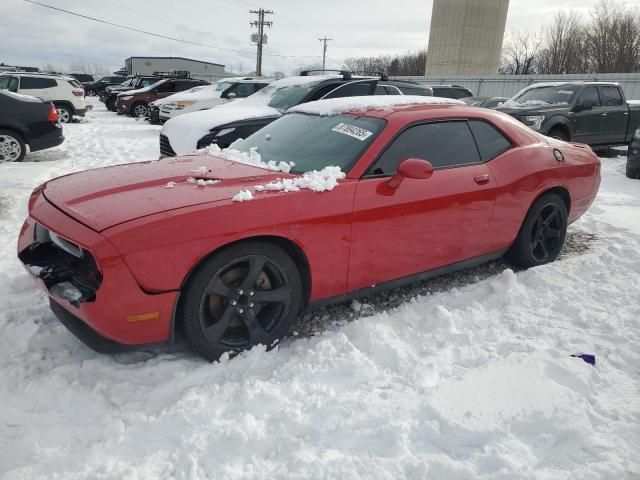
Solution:
[[[118,113],[131,115],[134,117],[147,117],[149,115],[149,104],[176,92],[184,92],[198,85],[209,85],[204,80],[167,78],[160,80],[148,87],[137,90],[129,90],[118,94],[116,107]]]

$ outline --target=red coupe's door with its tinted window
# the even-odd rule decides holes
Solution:
[[[390,188],[389,178],[407,158],[429,160],[433,176]],[[466,121],[410,126],[358,183],[349,290],[489,253],[484,240],[496,192]]]

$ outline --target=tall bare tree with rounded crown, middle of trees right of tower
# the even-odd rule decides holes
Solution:
[[[576,12],[559,12],[553,23],[543,29],[542,47],[536,57],[537,73],[584,73],[586,31]]]

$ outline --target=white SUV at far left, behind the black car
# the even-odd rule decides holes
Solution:
[[[37,97],[52,102],[58,110],[61,123],[83,117],[87,112],[84,89],[75,78],[42,73],[5,73],[0,75],[0,90]]]

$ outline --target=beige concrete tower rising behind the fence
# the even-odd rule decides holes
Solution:
[[[426,75],[498,71],[509,0],[434,0]]]

